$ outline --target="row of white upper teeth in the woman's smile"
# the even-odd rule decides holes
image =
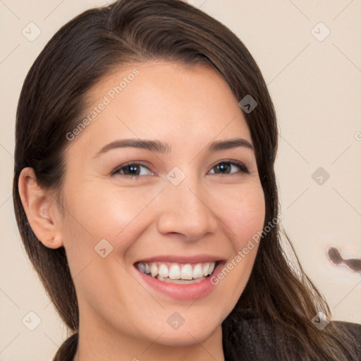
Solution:
[[[164,279],[199,279],[208,276],[214,271],[216,262],[203,262],[197,264],[179,264],[169,262],[138,262],[137,267],[145,274],[151,274],[152,277],[161,276]]]

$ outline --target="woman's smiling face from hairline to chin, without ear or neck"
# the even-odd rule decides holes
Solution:
[[[240,298],[257,244],[243,249],[264,226],[255,152],[217,145],[252,144],[238,99],[213,68],[153,61],[104,78],[89,101],[68,135],[61,225],[80,329],[202,342]]]

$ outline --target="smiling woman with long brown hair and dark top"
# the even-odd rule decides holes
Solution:
[[[54,360],[360,360],[361,326],[283,255],[274,106],[179,0],[80,14],[25,79],[13,199],[72,336]],[[286,234],[286,233],[285,233]]]

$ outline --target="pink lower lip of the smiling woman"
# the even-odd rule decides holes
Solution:
[[[219,272],[221,272],[223,268],[223,264],[220,263],[213,271],[212,275],[204,279],[203,281],[197,283],[171,283],[165,281],[159,281],[159,279],[154,279],[152,276],[148,276],[140,271],[137,266],[135,269],[138,274],[140,274],[140,278],[143,283],[147,286],[150,286],[164,295],[168,295],[169,297],[175,300],[197,300],[198,298],[203,298],[214,290],[216,285],[211,283],[211,279],[213,279]]]

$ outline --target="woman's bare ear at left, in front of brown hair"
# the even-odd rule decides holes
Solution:
[[[27,167],[20,172],[18,190],[27,221],[37,239],[46,247],[61,247],[63,238],[56,200],[49,190],[37,184],[34,169]]]

